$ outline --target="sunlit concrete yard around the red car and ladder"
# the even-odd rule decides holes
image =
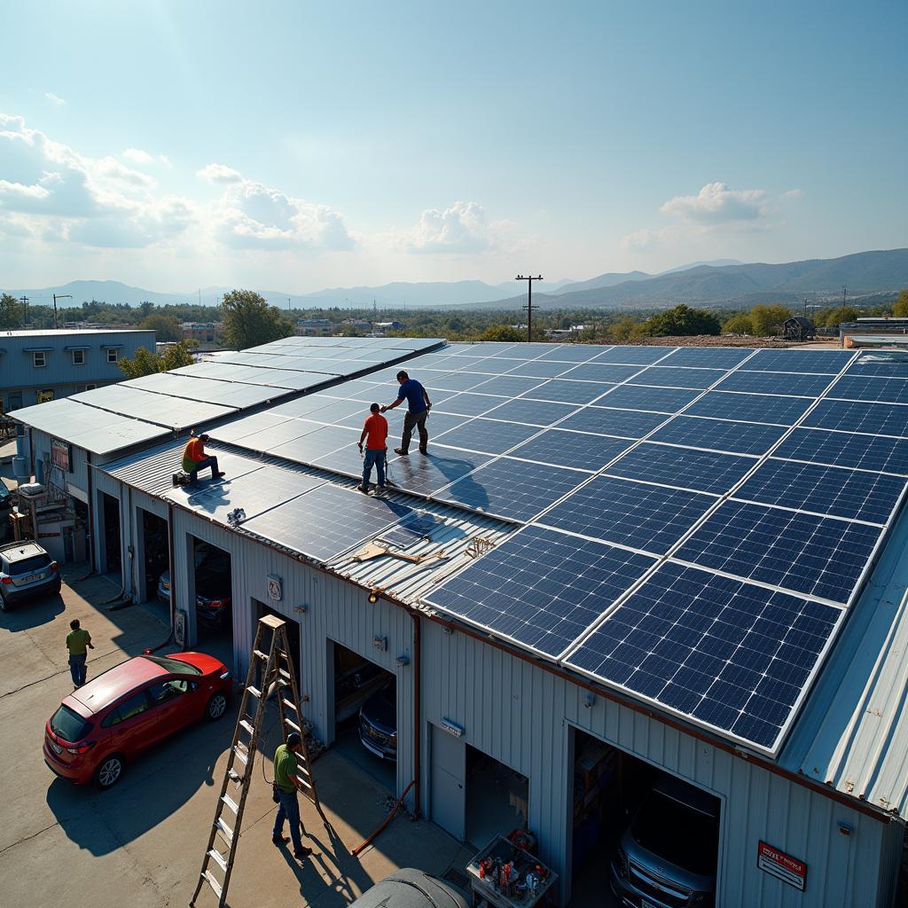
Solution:
[[[60,597],[0,613],[0,902],[16,908],[152,908],[192,896],[220,791],[239,697],[220,722],[186,729],[129,765],[108,792],[57,779],[41,754],[44,722],[72,691],[64,637],[78,617],[94,639],[88,676],[157,646],[167,628],[151,609],[108,611],[117,590],[86,568],[64,574]],[[83,579],[84,578],[84,579]],[[165,647],[163,652],[167,652]],[[170,650],[173,651],[173,650]],[[389,792],[335,750],[314,765],[326,829],[301,798],[314,854],[303,864],[271,844],[274,716],[257,759],[228,903],[341,906],[400,866],[443,876],[469,850],[438,826],[398,816],[360,858],[360,844],[386,816]],[[203,891],[200,908],[217,904]]]

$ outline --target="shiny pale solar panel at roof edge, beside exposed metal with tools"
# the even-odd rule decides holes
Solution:
[[[390,498],[325,485],[247,520],[243,529],[325,562],[378,536],[410,510]]]

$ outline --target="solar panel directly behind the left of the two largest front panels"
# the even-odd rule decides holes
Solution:
[[[716,498],[697,492],[596,477],[548,511],[541,522],[662,554],[715,504]]]

